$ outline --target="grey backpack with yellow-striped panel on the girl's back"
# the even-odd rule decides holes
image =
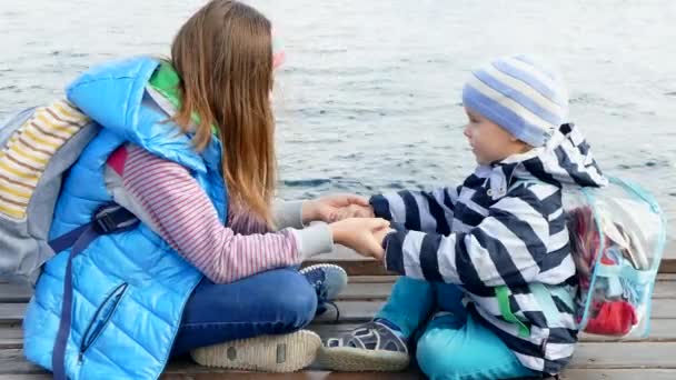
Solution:
[[[117,204],[101,207],[92,223],[49,240],[61,182],[99,127],[68,101],[27,109],[0,124],[0,281],[34,284],[54,252],[129,226]],[[135,218],[136,219],[136,218]],[[74,249],[73,249],[74,251]]]

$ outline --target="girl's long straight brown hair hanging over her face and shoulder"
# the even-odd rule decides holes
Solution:
[[[247,206],[271,226],[277,180],[270,21],[238,1],[212,0],[179,30],[171,61],[180,81],[181,107],[173,120],[203,150],[211,126],[222,142],[222,176],[230,203]]]

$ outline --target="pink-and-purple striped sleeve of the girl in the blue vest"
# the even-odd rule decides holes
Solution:
[[[291,230],[236,234],[220,222],[187,169],[138,147],[126,149],[126,190],[150,216],[160,237],[213,282],[300,262]]]

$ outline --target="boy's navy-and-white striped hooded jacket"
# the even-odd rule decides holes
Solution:
[[[384,241],[388,270],[459,284],[475,316],[525,367],[554,374],[570,360],[577,326],[555,296],[560,318],[547,320],[528,284],[575,291],[561,188],[606,183],[579,130],[564,124],[545,147],[480,166],[459,187],[386,193],[370,202],[377,217],[402,226]],[[501,286],[527,337],[500,313]]]

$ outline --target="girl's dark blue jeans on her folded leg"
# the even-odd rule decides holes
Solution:
[[[207,278],[183,310],[172,354],[262,334],[289,333],[315,318],[317,293],[296,269],[275,269],[226,284]]]

